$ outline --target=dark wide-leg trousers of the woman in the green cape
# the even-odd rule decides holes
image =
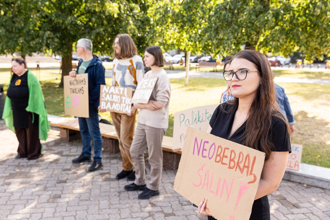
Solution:
[[[32,117],[29,116],[28,128],[16,128],[16,137],[18,140],[17,153],[21,157],[27,157],[28,160],[37,159],[41,155],[41,143],[39,140],[39,125],[32,123]]]

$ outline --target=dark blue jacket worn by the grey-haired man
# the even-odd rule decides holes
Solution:
[[[82,63],[82,59],[78,63],[77,73]],[[88,73],[88,96],[89,105],[97,108],[100,105],[100,88],[105,85],[105,69],[102,61],[93,54],[93,59],[88,65],[85,73]]]

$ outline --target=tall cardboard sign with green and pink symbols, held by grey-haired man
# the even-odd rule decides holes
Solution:
[[[89,118],[88,74],[64,76],[64,113]]]

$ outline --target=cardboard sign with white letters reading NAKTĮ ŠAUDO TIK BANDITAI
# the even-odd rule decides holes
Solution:
[[[101,85],[101,109],[127,114],[131,112],[131,99],[132,88],[130,87]]]

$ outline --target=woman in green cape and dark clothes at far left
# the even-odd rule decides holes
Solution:
[[[44,95],[37,77],[22,58],[12,60],[12,71],[2,119],[16,133],[15,158],[38,159],[42,156],[40,140],[47,139],[50,129]]]

